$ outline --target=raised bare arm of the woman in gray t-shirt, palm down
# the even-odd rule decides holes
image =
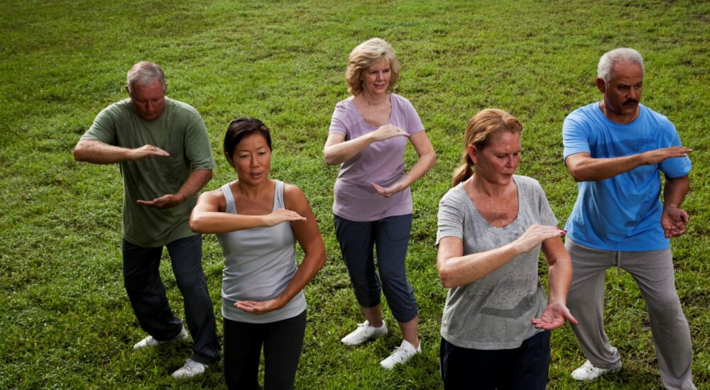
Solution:
[[[464,242],[457,237],[439,241],[437,270],[439,279],[448,289],[475,282],[500,268],[515,256],[530,252],[548,238],[564,235],[556,226],[532,225],[517,240],[486,252],[463,255]]]

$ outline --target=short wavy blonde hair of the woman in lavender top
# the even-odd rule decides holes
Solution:
[[[360,74],[378,62],[381,58],[386,58],[389,62],[392,75],[387,91],[392,92],[399,79],[400,63],[395,55],[392,46],[380,38],[372,38],[357,45],[348,56],[348,67],[345,70],[345,81],[348,84],[348,92],[353,96],[362,91],[362,80]]]

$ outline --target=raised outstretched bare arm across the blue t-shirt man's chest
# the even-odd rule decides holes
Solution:
[[[649,150],[638,155],[611,158],[594,158],[589,153],[582,152],[567,156],[564,163],[567,164],[567,169],[574,177],[574,181],[597,182],[628,172],[641,165],[654,165],[667,158],[685,157],[692,151],[687,147],[672,146]]]

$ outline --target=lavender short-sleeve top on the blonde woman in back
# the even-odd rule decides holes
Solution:
[[[407,99],[390,95],[392,124],[414,135],[424,130],[422,121]],[[371,133],[378,127],[365,122],[353,102],[353,96],[335,105],[329,133],[345,136],[345,140]],[[351,221],[377,221],[390,216],[412,213],[410,189],[386,198],[372,188],[372,183],[391,186],[404,177],[406,166],[404,152],[408,139],[394,137],[372,143],[355,157],[340,165],[335,181],[333,213]]]

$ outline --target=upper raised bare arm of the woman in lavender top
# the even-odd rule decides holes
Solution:
[[[325,163],[327,165],[338,165],[355,157],[371,143],[400,136],[408,137],[409,133],[394,125],[381,126],[372,133],[361,135],[349,141],[345,140],[345,135],[330,133],[323,147]]]

